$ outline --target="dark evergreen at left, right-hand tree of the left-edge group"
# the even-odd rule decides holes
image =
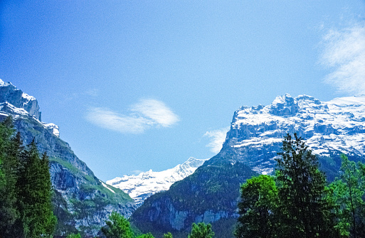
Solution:
[[[19,211],[21,228],[19,237],[51,236],[57,222],[51,205],[51,177],[46,154],[39,158],[36,143],[33,140],[23,153],[23,169],[18,180]]]

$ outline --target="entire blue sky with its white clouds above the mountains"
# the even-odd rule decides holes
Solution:
[[[102,180],[216,154],[242,105],[365,93],[365,1],[1,1],[0,78]]]

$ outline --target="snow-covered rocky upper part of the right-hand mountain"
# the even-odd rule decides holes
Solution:
[[[221,158],[233,154],[235,158],[226,158],[247,163],[259,173],[271,173],[283,137],[295,132],[319,156],[364,156],[365,95],[321,102],[307,95],[285,94],[265,107],[240,107],[233,115]]]

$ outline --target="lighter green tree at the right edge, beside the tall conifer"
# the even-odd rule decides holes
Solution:
[[[337,228],[343,237],[365,234],[365,170],[363,163],[342,155],[341,176],[329,185],[336,206]]]

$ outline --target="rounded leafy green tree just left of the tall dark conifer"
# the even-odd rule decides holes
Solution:
[[[279,199],[274,178],[269,175],[250,178],[240,190],[236,237],[276,237],[278,227],[274,212]]]

